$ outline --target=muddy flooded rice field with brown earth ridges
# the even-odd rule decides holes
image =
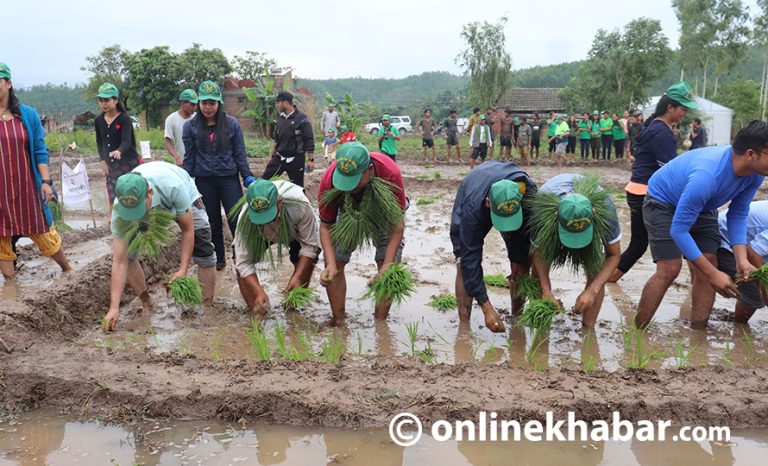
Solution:
[[[533,338],[515,325],[509,291],[489,287],[507,331],[428,305],[452,293],[456,266],[448,226],[453,198],[468,167],[401,163],[411,207],[404,263],[417,293],[373,319],[359,299],[375,274],[373,251],[347,266],[347,325],[330,325],[325,290],[306,309],[286,312],[280,289],[291,265],[260,271],[272,312],[255,334],[231,260],[217,272],[213,309],[182,309],[162,286],[178,266],[178,248],[144,263],[153,314],[124,294],[118,332],[99,320],[109,301],[110,236],[103,177],[89,166],[96,228],[86,209],[70,210],[65,252],[74,271],[22,246],[15,282],[0,284],[0,466],[16,464],[765,464],[768,444],[768,311],[749,326],[731,320],[735,301],[718,297],[706,331],[688,328],[690,279],[681,274],[646,335],[632,335],[641,290],[654,270],[650,254],[609,284],[592,333],[579,316],[557,316]],[[55,167],[54,167],[55,169]],[[261,173],[263,162],[253,162]],[[529,169],[541,184],[561,172],[598,174],[619,208],[629,241],[621,164]],[[55,172],[55,170],[54,170]],[[322,168],[308,176],[313,201]],[[761,198],[767,198],[763,190]],[[509,273],[498,233],[486,239],[486,274]],[[570,308],[585,278],[553,275]],[[259,336],[262,337],[258,342]],[[266,345],[268,360],[260,360]],[[583,420],[669,419],[674,425],[725,425],[730,443],[562,443],[394,445],[390,418],[409,411],[430,423],[500,418],[541,419],[547,412]],[[510,454],[511,452],[511,454]]]

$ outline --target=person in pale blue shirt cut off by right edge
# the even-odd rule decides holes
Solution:
[[[720,249],[717,250],[717,268],[736,279],[736,258],[733,255],[728,235],[728,211],[720,212],[717,217],[720,229]],[[768,262],[768,201],[756,201],[749,205],[747,216],[747,259],[755,267]],[[746,324],[756,310],[765,306],[766,296],[754,282],[742,282],[738,285],[739,296],[733,314],[734,322]]]

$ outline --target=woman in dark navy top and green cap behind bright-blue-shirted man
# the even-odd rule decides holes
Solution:
[[[696,108],[699,106],[693,101],[690,84],[681,81],[669,86],[637,139],[632,177],[625,188],[632,237],[610,282],[616,282],[629,272],[648,248],[648,231],[643,221],[643,200],[648,193],[648,180],[656,170],[677,156],[677,139],[672,127],[685,118],[688,109]]]

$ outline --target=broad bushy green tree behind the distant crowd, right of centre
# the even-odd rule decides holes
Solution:
[[[638,18],[624,32],[597,31],[588,59],[558,97],[568,110],[628,109],[648,101],[648,85],[672,57],[661,23]]]

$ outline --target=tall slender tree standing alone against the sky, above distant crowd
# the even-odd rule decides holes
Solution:
[[[512,59],[504,33],[507,21],[502,16],[495,24],[473,22],[461,30],[467,48],[459,53],[456,62],[470,77],[469,102],[479,107],[496,104],[511,84]]]

